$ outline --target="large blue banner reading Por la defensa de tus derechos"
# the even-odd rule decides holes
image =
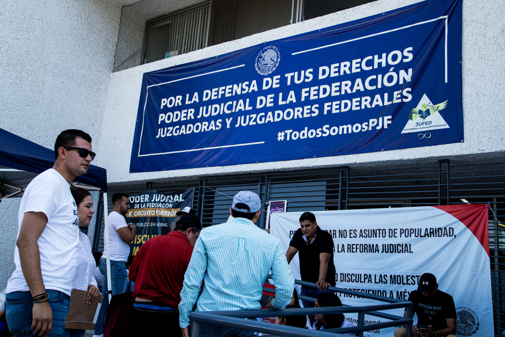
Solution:
[[[145,73],[130,172],[462,142],[462,1]]]

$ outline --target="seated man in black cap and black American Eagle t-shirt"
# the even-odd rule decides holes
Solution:
[[[414,303],[412,315],[417,314],[417,326],[412,326],[412,335],[421,337],[456,337],[456,308],[452,296],[438,290],[435,275],[424,273],[419,278],[417,291],[410,293]],[[407,317],[407,311],[403,314]],[[394,331],[394,337],[405,337],[406,325]]]

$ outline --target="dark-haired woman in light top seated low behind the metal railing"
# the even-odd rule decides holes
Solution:
[[[317,296],[316,308],[326,308],[326,307],[341,307],[342,302],[337,295],[332,293],[320,293]],[[349,327],[354,326],[351,322],[349,322],[343,314],[319,314],[315,315],[314,325],[312,327],[313,330],[324,330],[324,329],[332,329],[337,327]],[[356,332],[344,333],[349,336],[356,336]]]

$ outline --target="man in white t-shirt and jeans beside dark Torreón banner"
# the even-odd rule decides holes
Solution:
[[[109,258],[111,259],[111,290],[112,295],[123,294],[126,291],[126,281],[128,271],[126,262],[130,255],[130,245],[137,234],[135,225],[128,225],[124,215],[130,209],[130,201],[125,193],[116,193],[112,196],[113,209],[109,213]],[[107,294],[107,251],[100,259],[100,272],[104,275],[102,295],[102,307],[96,319],[94,336],[103,336],[104,320],[107,307],[109,305],[109,296]]]

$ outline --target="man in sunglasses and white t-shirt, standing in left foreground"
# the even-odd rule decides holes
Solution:
[[[72,279],[79,264],[79,216],[70,183],[95,154],[91,137],[65,130],[56,138],[55,164],[26,187],[18,214],[16,270],[7,282],[6,316],[15,336],[63,336]]]

